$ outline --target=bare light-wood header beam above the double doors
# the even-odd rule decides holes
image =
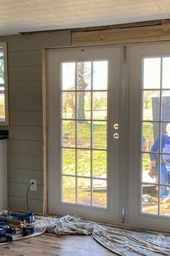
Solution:
[[[115,28],[71,34],[72,46],[170,40],[170,25]]]

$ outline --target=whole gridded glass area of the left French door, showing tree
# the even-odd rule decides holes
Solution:
[[[61,65],[61,201],[107,208],[108,61]]]

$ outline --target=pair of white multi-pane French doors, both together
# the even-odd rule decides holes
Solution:
[[[48,50],[50,213],[169,230],[169,46]]]

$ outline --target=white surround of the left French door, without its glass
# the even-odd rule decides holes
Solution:
[[[68,205],[61,205],[61,202],[56,202],[54,204],[54,201],[52,198],[56,194],[60,194],[60,183],[58,179],[58,174],[57,172],[54,172],[53,170],[56,169],[56,165],[53,161],[55,159],[58,164],[60,163],[60,158],[59,158],[59,148],[55,149],[55,145],[60,144],[59,136],[55,137],[54,135],[57,133],[59,135],[60,133],[60,127],[58,125],[58,120],[60,119],[60,116],[57,114],[56,116],[56,109],[60,109],[60,103],[59,101],[56,101],[55,95],[60,95],[60,88],[56,86],[56,83],[54,81],[57,81],[59,84],[59,64],[61,60],[73,60],[75,59],[76,51],[80,51],[81,48],[87,49],[89,53],[87,53],[87,56],[85,59],[91,59],[91,56],[93,55],[94,51],[97,50],[99,52],[99,59],[106,59],[106,56],[114,60],[115,58],[115,64],[113,63],[113,72],[110,72],[111,75],[111,80],[116,81],[116,87],[119,88],[120,85],[120,51],[121,48],[120,46],[86,46],[86,47],[69,47],[69,48],[59,48],[59,49],[50,49],[47,52],[47,86],[46,86],[46,93],[47,93],[47,124],[50,123],[51,120],[53,120],[53,126],[48,125],[48,187],[53,187],[52,189],[48,189],[48,207],[49,207],[49,212],[50,213],[58,213],[58,214],[66,214],[66,211],[68,209]],[[116,51],[115,51],[116,48]],[[104,50],[105,49],[105,50]],[[109,50],[109,54],[108,54]],[[57,56],[58,56],[58,61],[57,64],[50,63],[49,58],[52,58],[53,54],[57,51]],[[70,51],[70,52],[69,52]],[[113,55],[110,54],[110,51]],[[69,57],[68,57],[69,54]],[[111,57],[110,57],[111,56]],[[119,58],[119,59],[118,59]],[[83,59],[83,58],[81,58]],[[118,59],[118,60],[117,60]],[[51,75],[53,74],[54,77]],[[53,79],[52,79],[53,77]],[[111,85],[111,80],[109,81],[109,86]],[[118,86],[117,86],[118,85]],[[112,93],[109,93],[109,101],[112,102],[112,95],[117,95],[119,91],[117,92],[117,89],[115,87],[109,88],[109,90],[112,90]],[[55,92],[55,93],[54,93]],[[50,101],[49,101],[50,98]],[[119,96],[115,97],[115,101],[112,102],[112,108],[116,109],[119,108],[119,102],[120,98]],[[109,111],[111,113],[111,111]],[[118,160],[119,160],[119,140],[115,140],[113,138],[113,127],[112,125],[117,122],[119,119],[119,116],[115,114],[115,119],[110,121],[109,124],[109,130],[112,131],[112,140],[109,140],[109,150],[112,155],[115,155],[115,159],[117,158],[115,162],[115,168],[118,168]],[[114,151],[112,151],[112,148],[115,148]],[[109,158],[112,162],[112,159]],[[111,164],[109,163],[109,166]],[[53,174],[53,175],[52,175]],[[57,181],[57,182],[55,182]],[[113,181],[113,184],[111,183]],[[90,213],[88,213],[89,209],[87,207],[79,207],[77,208],[75,212],[75,206],[69,206],[69,213],[70,214],[75,214],[75,213],[80,213],[81,216],[84,216],[84,218],[93,218],[99,221],[108,221],[108,222],[120,222],[121,221],[121,205],[120,205],[120,179],[119,179],[119,174],[118,173],[113,173],[113,171],[110,171],[109,173],[109,187],[112,187],[112,195],[115,197],[115,202],[112,202],[111,198],[112,195],[109,195],[109,209],[103,210],[103,209],[90,209]],[[57,206],[60,205],[61,210],[58,210]],[[116,206],[115,206],[116,205]],[[67,212],[68,213],[68,212]],[[86,213],[86,214],[84,214]]]

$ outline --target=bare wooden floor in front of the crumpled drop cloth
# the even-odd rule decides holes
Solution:
[[[0,244],[3,256],[115,256],[115,253],[98,244],[92,236],[55,236],[45,233],[31,239],[23,239],[9,244]]]

